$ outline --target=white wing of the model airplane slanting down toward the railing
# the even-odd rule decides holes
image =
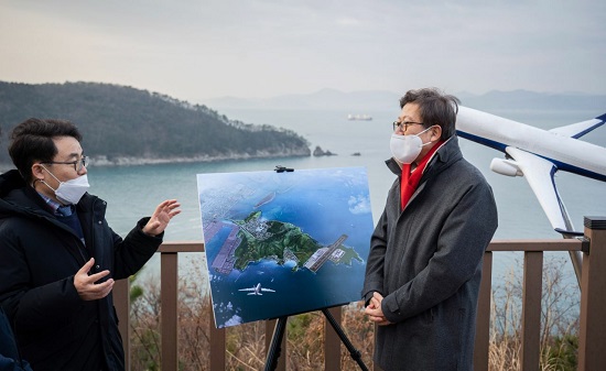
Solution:
[[[523,173],[553,229],[559,232],[569,231],[574,233],[571,231],[572,226],[563,217],[567,214],[555,188],[553,179],[553,174],[558,171],[555,165],[538,155],[513,146],[508,146],[505,151],[515,160],[516,165]]]

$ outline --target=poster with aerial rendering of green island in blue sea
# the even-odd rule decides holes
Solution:
[[[364,167],[198,174],[197,187],[216,327],[360,298]]]

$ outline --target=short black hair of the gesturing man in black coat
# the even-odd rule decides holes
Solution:
[[[28,184],[32,181],[33,163],[51,162],[57,154],[53,139],[58,137],[73,137],[82,141],[78,128],[66,120],[31,118],[13,128],[9,154]]]

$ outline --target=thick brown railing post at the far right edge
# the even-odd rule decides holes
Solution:
[[[578,370],[606,370],[606,217],[585,217]]]

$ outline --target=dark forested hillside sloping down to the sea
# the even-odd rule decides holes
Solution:
[[[229,120],[206,106],[118,85],[0,81],[0,163],[11,129],[28,118],[71,120],[98,163],[310,155],[296,133]]]

